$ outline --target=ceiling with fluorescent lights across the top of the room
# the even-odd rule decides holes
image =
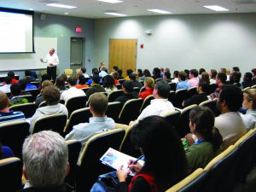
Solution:
[[[46,6],[47,3],[61,3],[76,6],[76,9],[62,9]],[[215,12],[204,5],[218,5],[229,12]],[[33,9],[35,12],[54,15],[78,16],[84,18],[112,18],[106,11],[128,16],[160,15],[147,9],[163,9],[172,15],[256,13],[256,0],[124,0],[123,3],[103,3],[96,0],[0,0],[0,7],[12,9]]]

